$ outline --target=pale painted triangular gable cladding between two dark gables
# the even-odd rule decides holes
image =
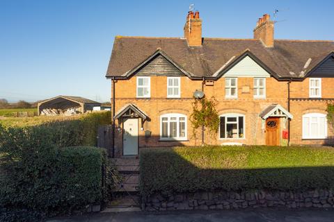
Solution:
[[[228,70],[223,77],[270,77],[270,74],[260,67],[252,58],[246,56]]]

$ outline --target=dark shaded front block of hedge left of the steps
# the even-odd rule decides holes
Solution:
[[[102,201],[102,165],[106,151],[102,148],[77,146],[26,147],[4,157],[5,176],[0,185],[0,221],[18,221],[13,215],[25,212],[35,216],[52,216],[81,210],[91,203]],[[15,214],[13,214],[15,210]],[[4,210],[3,210],[4,211]]]

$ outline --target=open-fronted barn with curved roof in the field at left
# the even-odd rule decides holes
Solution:
[[[38,115],[72,115],[100,107],[101,103],[80,96],[56,96],[39,101]]]

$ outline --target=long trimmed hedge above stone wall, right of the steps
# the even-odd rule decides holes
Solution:
[[[205,146],[141,152],[141,192],[334,187],[334,148]]]

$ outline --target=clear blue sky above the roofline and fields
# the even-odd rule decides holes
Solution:
[[[189,4],[203,37],[251,38],[278,9],[275,37],[334,40],[334,1],[0,0],[0,98],[84,96],[109,101],[106,67],[116,35],[182,37]]]

